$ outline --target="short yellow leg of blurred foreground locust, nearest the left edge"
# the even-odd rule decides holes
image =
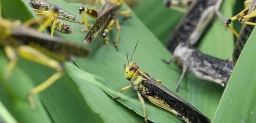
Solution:
[[[7,69],[4,72],[4,79],[7,79],[17,64],[17,55],[11,46],[5,46],[4,50],[6,52],[8,59],[10,59],[10,62],[7,65]]]

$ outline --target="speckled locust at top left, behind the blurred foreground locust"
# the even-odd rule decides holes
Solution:
[[[79,23],[75,15],[58,7],[57,5],[53,5],[52,3],[47,2],[46,0],[27,0],[27,2],[31,5],[31,7],[33,8],[33,10],[37,15],[43,15],[47,13],[47,11],[53,8],[58,8],[56,17],[52,17],[51,21],[48,24],[48,26],[51,27],[51,32],[52,32],[51,36],[53,35],[53,30],[56,30],[57,32],[65,33],[65,34],[72,33],[72,29],[70,25],[65,24],[59,19],[73,22],[73,23]],[[54,25],[55,28],[53,28],[54,23],[55,23]]]

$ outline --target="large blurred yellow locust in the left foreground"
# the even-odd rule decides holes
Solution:
[[[49,11],[48,18],[56,15],[56,11],[56,9],[55,11]],[[44,17],[40,19],[43,20]],[[4,72],[5,81],[18,62],[17,54],[24,59],[56,70],[56,73],[45,82],[31,89],[28,94],[31,108],[35,108],[33,96],[55,83],[65,73],[63,62],[71,61],[72,56],[86,57],[89,54],[89,50],[83,47],[57,37],[42,34],[28,27],[40,19],[31,19],[21,24],[19,21],[9,21],[0,16],[0,45],[4,47],[7,58],[10,60]],[[42,24],[42,26],[44,25]]]

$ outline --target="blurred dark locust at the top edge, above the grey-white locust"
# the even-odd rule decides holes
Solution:
[[[176,4],[190,5],[183,20],[176,26],[167,43],[167,48],[171,53],[180,42],[189,41],[190,44],[195,44],[207,25],[214,19],[215,13],[224,22],[223,16],[218,11],[222,0],[167,0],[164,3],[167,7],[174,7]]]

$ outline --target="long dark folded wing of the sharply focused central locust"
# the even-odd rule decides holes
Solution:
[[[189,122],[192,123],[210,123],[210,120],[198,111],[195,107],[189,104],[184,99],[170,91],[168,88],[157,82],[154,78],[147,79],[141,82],[143,86],[148,88],[149,96],[158,96],[163,99],[169,107],[180,115],[180,118],[185,117]],[[183,118],[184,119],[184,118]]]

